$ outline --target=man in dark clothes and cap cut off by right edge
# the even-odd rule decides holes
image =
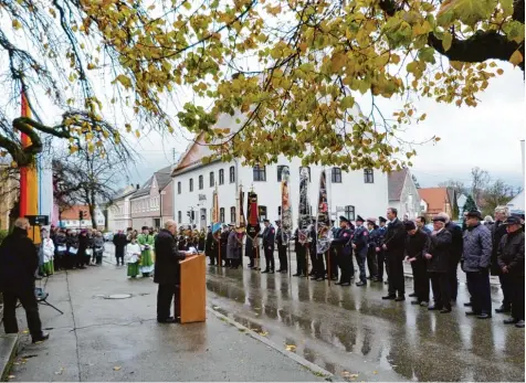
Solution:
[[[524,329],[524,232],[520,220],[508,217],[504,225],[505,234],[498,245],[498,266],[502,274],[508,276],[512,294],[512,317],[504,323]]]

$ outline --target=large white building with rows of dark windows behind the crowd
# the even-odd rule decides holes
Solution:
[[[235,118],[228,117],[228,118]],[[218,126],[231,126],[228,119],[220,118]],[[293,206],[294,224],[297,222],[301,159],[287,160],[278,157],[275,164],[266,167],[243,166],[240,160],[230,162],[212,161],[202,163],[210,149],[202,137],[196,139],[181,157],[172,172],[173,213],[179,224],[196,224],[206,227],[212,217],[212,193],[218,185],[220,221],[234,223],[239,185],[243,187],[243,211],[246,216],[246,194],[253,189],[257,193],[260,219],[269,219],[274,224],[281,215],[281,171],[290,168],[290,198]],[[323,167],[311,166],[309,204],[313,215],[319,190],[319,175]],[[329,184],[332,217],[346,215],[354,221],[359,214],[364,217],[386,214],[388,208],[387,174],[372,169],[345,172],[340,168],[326,168]]]

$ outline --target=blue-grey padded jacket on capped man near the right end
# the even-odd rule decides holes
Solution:
[[[492,258],[492,234],[484,225],[467,227],[464,232],[462,254],[465,273],[478,273],[490,268]]]

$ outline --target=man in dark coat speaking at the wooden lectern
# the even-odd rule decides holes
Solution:
[[[159,285],[157,290],[157,321],[159,323],[175,323],[179,321],[179,260],[192,255],[192,252],[180,252],[177,248],[175,221],[165,222],[155,241],[156,264],[154,281]],[[176,312],[170,317],[171,300],[175,300]]]

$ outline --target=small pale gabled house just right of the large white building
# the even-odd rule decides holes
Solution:
[[[389,208],[398,210],[398,216],[414,220],[420,215],[420,195],[409,169],[392,171],[388,175]]]

